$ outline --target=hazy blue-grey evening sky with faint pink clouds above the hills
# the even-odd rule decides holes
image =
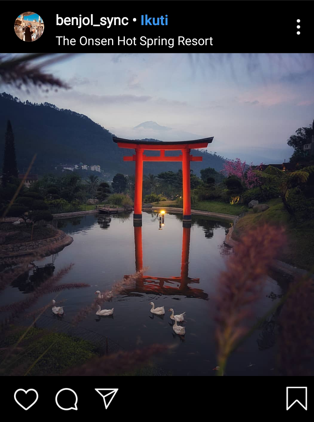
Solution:
[[[123,138],[214,136],[210,150],[225,157],[254,164],[289,159],[287,139],[314,118],[313,56],[169,50],[81,54],[45,69],[72,89],[49,94],[3,90],[86,114]],[[172,129],[133,129],[146,121]]]

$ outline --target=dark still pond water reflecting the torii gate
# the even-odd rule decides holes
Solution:
[[[0,305],[24,299],[47,276],[72,263],[73,268],[59,284],[87,283],[91,287],[45,295],[35,307],[54,297],[63,301],[64,315],[56,317],[54,324],[64,324],[92,303],[96,290],[110,290],[114,282],[146,268],[140,282],[127,285],[112,302],[103,304],[102,308],[114,307],[113,317],[92,313],[79,322],[79,327],[106,336],[125,350],[152,343],[175,345],[158,359],[162,371],[175,376],[214,376],[214,295],[219,273],[232,253],[224,244],[230,225],[229,221],[192,216],[192,227],[183,228],[181,215],[167,213],[160,226],[157,212],[143,212],[142,227],[133,227],[132,214],[58,220],[58,228],[72,236],[73,243],[35,262],[35,271],[20,276],[5,289]],[[254,318],[265,314],[281,294],[279,284],[268,277]],[[151,314],[150,302],[164,306],[165,315]],[[186,313],[184,339],[173,331],[169,308],[175,314]],[[53,318],[50,310],[48,315]],[[276,330],[275,317],[271,316],[233,353],[226,375],[274,375]]]

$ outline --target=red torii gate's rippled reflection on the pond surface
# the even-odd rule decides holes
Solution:
[[[181,275],[179,277],[152,277],[140,276],[134,284],[125,284],[124,292],[138,292],[147,294],[162,295],[184,295],[190,298],[206,299],[207,293],[201,289],[195,289],[188,286],[190,283],[199,283],[200,279],[192,279],[189,273],[189,243],[190,227],[183,227],[182,236],[182,257],[181,257]],[[135,241],[135,269],[141,271],[143,268],[143,248],[142,248],[142,227],[134,227]],[[127,279],[130,276],[125,276]],[[179,287],[166,284],[179,284]]]

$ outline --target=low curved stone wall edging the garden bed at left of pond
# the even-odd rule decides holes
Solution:
[[[55,232],[56,234],[53,237],[43,240],[2,245],[0,246],[0,256],[24,255],[27,254],[27,252],[46,248],[49,245],[51,245],[51,249],[53,249],[55,243],[58,243],[58,248],[60,249],[60,247],[63,248],[73,242],[73,238],[62,232],[62,230],[55,230]]]

